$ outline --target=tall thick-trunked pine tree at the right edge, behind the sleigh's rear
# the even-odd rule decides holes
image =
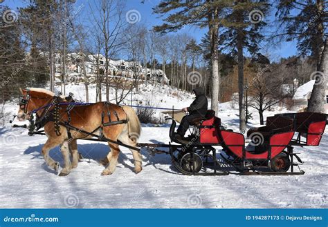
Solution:
[[[298,42],[301,55],[309,55],[318,73],[313,73],[317,83],[313,86],[308,111],[325,112],[325,89],[327,86],[327,1],[325,0],[280,0],[276,17],[280,21],[281,32],[273,37]],[[326,36],[325,36],[326,34]]]

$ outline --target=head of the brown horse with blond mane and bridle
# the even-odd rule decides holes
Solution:
[[[46,102],[53,98],[55,95],[53,92],[48,90],[31,88],[21,89],[21,98],[19,100],[19,110],[17,113],[17,119],[19,121],[29,120],[33,114],[33,110],[41,108]]]

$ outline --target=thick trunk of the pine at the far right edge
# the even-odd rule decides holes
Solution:
[[[327,87],[327,75],[328,75],[328,47],[327,38],[325,40],[325,46],[322,51],[320,65],[318,67],[318,74],[316,75],[316,83],[314,83],[311,97],[309,99],[307,111],[309,112],[322,112],[325,110],[325,92]],[[314,79],[314,78],[313,78]]]

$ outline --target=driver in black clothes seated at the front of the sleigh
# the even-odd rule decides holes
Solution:
[[[189,115],[185,115],[181,120],[180,126],[176,131],[176,139],[183,139],[185,132],[190,126],[190,122],[193,119],[205,117],[208,110],[208,99],[205,96],[203,88],[194,88],[192,92],[196,95],[196,99],[194,99],[190,107],[182,108],[184,112],[189,112]]]

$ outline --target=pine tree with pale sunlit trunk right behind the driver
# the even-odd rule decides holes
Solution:
[[[219,99],[219,24],[220,13],[228,1],[224,0],[194,0],[194,1],[161,1],[154,12],[158,14],[170,13],[161,26],[155,26],[156,32],[172,32],[183,26],[195,25],[201,28],[208,27],[210,38],[210,57],[212,66],[211,76],[211,109],[217,112]]]

